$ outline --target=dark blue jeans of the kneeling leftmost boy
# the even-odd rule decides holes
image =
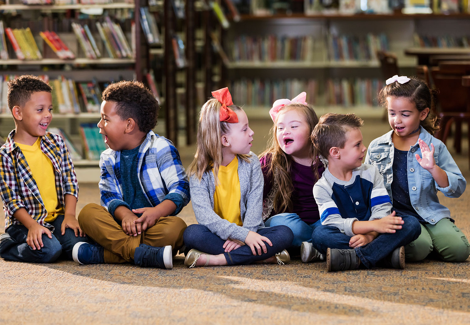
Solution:
[[[28,228],[21,224],[11,225],[7,228],[7,233],[11,239],[3,240],[0,243],[0,257],[8,261],[29,262],[29,263],[52,263],[59,257],[72,259],[72,249],[77,242],[91,242],[85,237],[75,237],[75,233],[70,228],[65,228],[65,234],[61,234],[63,214],[54,221],[49,222],[54,226],[52,239],[47,234],[42,234],[44,247],[33,250],[27,243]]]

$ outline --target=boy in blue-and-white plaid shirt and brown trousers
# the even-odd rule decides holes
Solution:
[[[102,98],[98,128],[110,149],[100,159],[101,206],[88,204],[78,215],[98,245],[76,244],[73,259],[171,269],[186,229],[175,215],[189,202],[180,154],[152,131],[158,103],[142,83],[110,84]]]

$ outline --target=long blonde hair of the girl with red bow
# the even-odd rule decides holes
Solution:
[[[196,154],[188,167],[188,175],[196,175],[201,181],[203,174],[214,170],[215,185],[219,183],[219,166],[223,159],[223,146],[221,136],[230,132],[233,123],[220,121],[220,104],[216,98],[211,98],[201,107],[199,125],[196,137]],[[228,106],[232,111],[242,111],[236,105]],[[250,162],[248,155],[237,155],[244,161]]]

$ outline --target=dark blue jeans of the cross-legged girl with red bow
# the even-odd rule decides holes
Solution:
[[[286,226],[261,228],[258,230],[258,234],[269,238],[273,243],[273,246],[266,244],[267,253],[261,250],[261,255],[253,255],[248,245],[240,246],[226,253],[222,247],[226,241],[212,233],[209,228],[201,225],[188,226],[184,231],[183,240],[187,250],[194,248],[211,255],[224,254],[227,265],[247,265],[272,257],[288,248],[294,237],[292,231]]]

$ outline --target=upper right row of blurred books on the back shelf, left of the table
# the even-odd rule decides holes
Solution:
[[[388,39],[385,33],[363,36],[329,35],[329,60],[376,60],[376,51],[388,51]]]

